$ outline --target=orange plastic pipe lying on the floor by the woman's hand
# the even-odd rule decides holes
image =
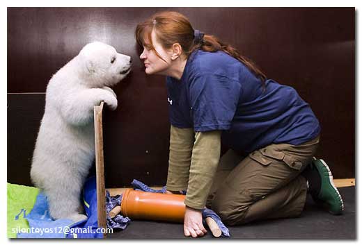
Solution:
[[[130,219],[184,222],[184,195],[126,189],[120,212]]]

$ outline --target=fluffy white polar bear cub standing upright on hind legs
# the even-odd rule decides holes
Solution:
[[[31,164],[31,180],[43,190],[54,219],[86,219],[81,189],[95,158],[93,106],[117,108],[116,85],[132,59],[101,42],[87,44],[49,81]]]

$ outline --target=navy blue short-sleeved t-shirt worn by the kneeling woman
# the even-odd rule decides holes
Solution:
[[[180,81],[167,77],[171,124],[196,132],[223,130],[223,144],[250,153],[269,144],[302,144],[320,124],[292,87],[262,82],[223,51],[194,51]]]

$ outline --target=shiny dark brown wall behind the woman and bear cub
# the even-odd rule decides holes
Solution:
[[[84,44],[100,40],[132,56],[104,119],[107,187],[166,183],[168,108],[162,76],[145,76],[134,28],[159,10],[187,15],[279,83],[295,87],[322,124],[317,157],[335,178],[355,161],[354,8],[8,8],[8,181],[30,185],[30,159],[49,78]],[[24,93],[34,94],[24,94]],[[14,94],[15,93],[15,94]],[[18,94],[19,93],[19,94]]]

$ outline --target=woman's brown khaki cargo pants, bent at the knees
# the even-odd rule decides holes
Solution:
[[[246,157],[233,150],[220,160],[207,198],[224,223],[233,226],[260,219],[297,217],[306,203],[306,179],[319,144],[271,144]]]

